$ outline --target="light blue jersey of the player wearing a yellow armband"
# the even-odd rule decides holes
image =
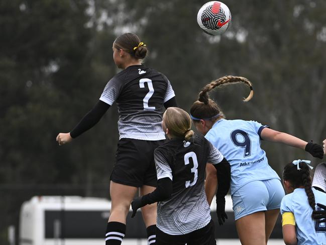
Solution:
[[[326,194],[312,188],[315,202],[326,203]],[[316,206],[318,210],[319,207]],[[308,197],[303,188],[297,188],[294,192],[283,197],[281,202],[281,214],[291,212],[295,218],[296,237],[298,245],[326,245],[326,225],[316,223],[311,218],[312,208],[309,206]]]

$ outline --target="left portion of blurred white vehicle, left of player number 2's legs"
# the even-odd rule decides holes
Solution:
[[[21,208],[19,244],[103,245],[110,209],[103,198],[33,197]]]

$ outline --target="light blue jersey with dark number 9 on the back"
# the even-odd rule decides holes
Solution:
[[[264,128],[255,121],[221,119],[205,135],[230,162],[231,195],[252,181],[280,180],[260,147],[260,133]]]

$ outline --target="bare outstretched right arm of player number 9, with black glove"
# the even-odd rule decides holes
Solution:
[[[270,128],[264,128],[261,131],[260,137],[263,140],[283,143],[289,146],[303,149],[308,151],[312,156],[318,157],[320,159],[323,157],[323,149],[321,145],[312,142],[308,143],[287,133],[279,132]]]

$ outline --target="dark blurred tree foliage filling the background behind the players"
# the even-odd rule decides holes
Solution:
[[[227,118],[257,120],[306,141],[326,138],[326,2],[228,0],[233,19],[221,37],[197,25],[205,2],[0,1],[0,239],[32,195],[108,197],[116,107],[69,145],[59,147],[55,138],[78,123],[119,71],[112,43],[126,30],[148,45],[146,64],[168,76],[186,111],[210,80],[245,76],[255,93],[248,103],[241,85],[210,93]],[[263,148],[278,172],[294,158],[311,159],[291,147]],[[35,189],[63,183],[78,190]],[[96,184],[107,191],[95,192]]]

